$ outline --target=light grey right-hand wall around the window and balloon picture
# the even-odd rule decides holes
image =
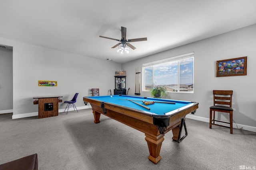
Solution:
[[[171,38],[171,37],[170,37]],[[172,93],[167,98],[199,102],[199,109],[194,119],[209,121],[209,107],[213,104],[212,90],[233,90],[234,122],[238,128],[256,131],[256,25],[244,27],[215,37],[204,39],[122,64],[127,73],[127,84],[130,95],[135,92],[135,68],[152,61],[166,59],[194,51],[194,94]],[[216,77],[216,61],[237,57],[248,57],[247,76]],[[142,82],[142,76],[140,76]],[[142,84],[141,84],[142,90]],[[142,92],[140,96],[151,97],[149,92]],[[219,116],[228,120],[229,115]],[[233,127],[236,127],[233,126]]]

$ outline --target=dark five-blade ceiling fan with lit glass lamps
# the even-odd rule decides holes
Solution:
[[[120,43],[114,45],[112,47],[112,49],[118,47],[118,51],[121,51],[121,53],[123,51],[127,51],[130,47],[131,49],[135,50],[136,47],[134,47],[133,45],[130,44],[130,42],[136,42],[136,41],[147,41],[147,37],[145,38],[136,38],[136,39],[126,39],[126,27],[121,27],[121,39],[114,39],[114,38],[109,38],[109,37],[103,37],[103,36],[100,36],[102,38],[107,38],[107,39],[112,39],[112,40],[116,40],[116,41],[120,41]],[[128,46],[128,47],[127,47]],[[117,52],[118,52],[117,51]],[[128,51],[129,52],[129,51]]]

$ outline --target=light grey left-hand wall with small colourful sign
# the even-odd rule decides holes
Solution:
[[[3,38],[0,44],[13,47],[13,118],[38,112],[34,96],[61,95],[64,102],[78,92],[76,107],[83,108],[83,97],[90,96],[91,88],[100,88],[100,95],[110,94],[115,71],[121,68],[118,63]],[[56,80],[58,86],[38,87],[38,80]],[[59,109],[65,109],[63,102]]]

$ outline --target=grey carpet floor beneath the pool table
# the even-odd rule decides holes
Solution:
[[[166,133],[158,164],[148,160],[144,133],[91,109],[56,117],[0,114],[0,164],[38,154],[39,170],[239,170],[256,166],[256,133],[186,119],[181,143]]]

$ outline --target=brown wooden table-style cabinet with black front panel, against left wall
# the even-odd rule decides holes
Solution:
[[[38,119],[59,115],[59,100],[62,96],[41,96],[34,97],[34,104],[38,104]]]

